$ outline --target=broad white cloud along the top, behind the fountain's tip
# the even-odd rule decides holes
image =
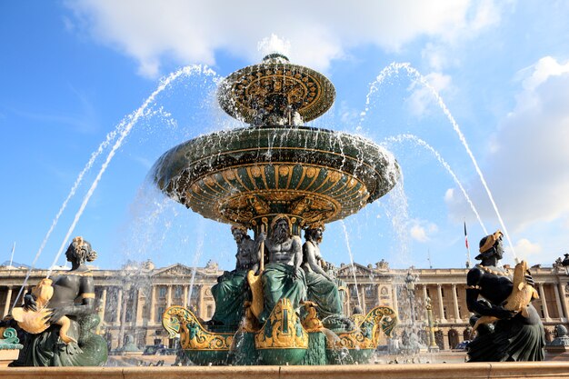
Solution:
[[[291,44],[291,59],[325,70],[355,45],[397,51],[419,36],[456,40],[499,17],[492,1],[349,2],[289,0],[69,0],[75,22],[95,40],[133,56],[144,75],[157,75],[165,57],[181,64],[215,63],[215,51],[256,62],[255,47],[276,34]]]

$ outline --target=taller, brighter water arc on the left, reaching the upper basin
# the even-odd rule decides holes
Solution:
[[[194,74],[206,74],[206,75],[215,75],[214,71],[211,70],[208,67],[203,67],[201,65],[192,65],[192,66],[185,66],[177,71],[175,71],[174,73],[168,75],[165,80],[162,81],[162,83],[160,85],[158,85],[158,88],[156,88],[155,92],[152,93],[152,95],[148,96],[148,98],[146,99],[145,103],[143,105],[140,106],[140,108],[138,108],[134,115],[129,116],[130,121],[128,122],[127,125],[125,125],[125,129],[121,132],[121,134],[119,135],[118,139],[115,142],[115,145],[113,145],[113,148],[111,149],[109,155],[107,155],[105,163],[101,166],[101,170],[99,171],[99,174],[95,177],[95,181],[93,182],[93,184],[91,185],[91,187],[89,188],[89,191],[87,191],[87,194],[85,194],[85,198],[83,199],[83,203],[81,204],[81,206],[79,207],[79,210],[77,211],[77,213],[75,214],[75,219],[73,221],[73,223],[71,224],[71,226],[69,227],[69,230],[67,231],[67,234],[65,234],[65,238],[63,243],[61,244],[59,251],[57,252],[56,256],[55,256],[55,260],[54,263],[52,264],[52,266],[49,269],[49,272],[47,273],[47,277],[49,277],[52,273],[52,267],[55,265],[55,263],[59,260],[60,255],[63,253],[64,248],[65,248],[65,244],[67,244],[67,241],[69,239],[69,237],[71,236],[71,234],[73,233],[73,231],[75,230],[75,225],[77,224],[77,222],[79,221],[79,218],[81,217],[81,215],[83,214],[84,210],[85,210],[85,206],[88,204],[89,199],[91,199],[91,196],[93,195],[93,193],[95,192],[96,186],[99,184],[99,181],[101,180],[101,177],[103,176],[103,174],[105,174],[105,170],[108,167],[108,165],[111,163],[111,160],[113,159],[113,157],[116,154],[116,151],[119,149],[119,147],[121,147],[121,145],[123,145],[123,142],[125,141],[125,138],[130,134],[130,131],[132,130],[133,126],[136,124],[136,122],[138,121],[138,119],[145,114],[145,109],[148,105],[150,105],[154,100],[156,95],[160,94],[162,91],[164,91],[164,89],[170,84],[172,83],[176,78],[180,77],[181,75],[194,75]]]

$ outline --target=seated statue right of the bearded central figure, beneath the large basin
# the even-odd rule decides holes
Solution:
[[[320,254],[324,236],[324,224],[310,225],[304,231],[303,269],[306,276],[306,296],[314,302],[318,316],[324,319],[333,314],[342,314],[342,300],[334,278],[324,271],[327,264]]]

